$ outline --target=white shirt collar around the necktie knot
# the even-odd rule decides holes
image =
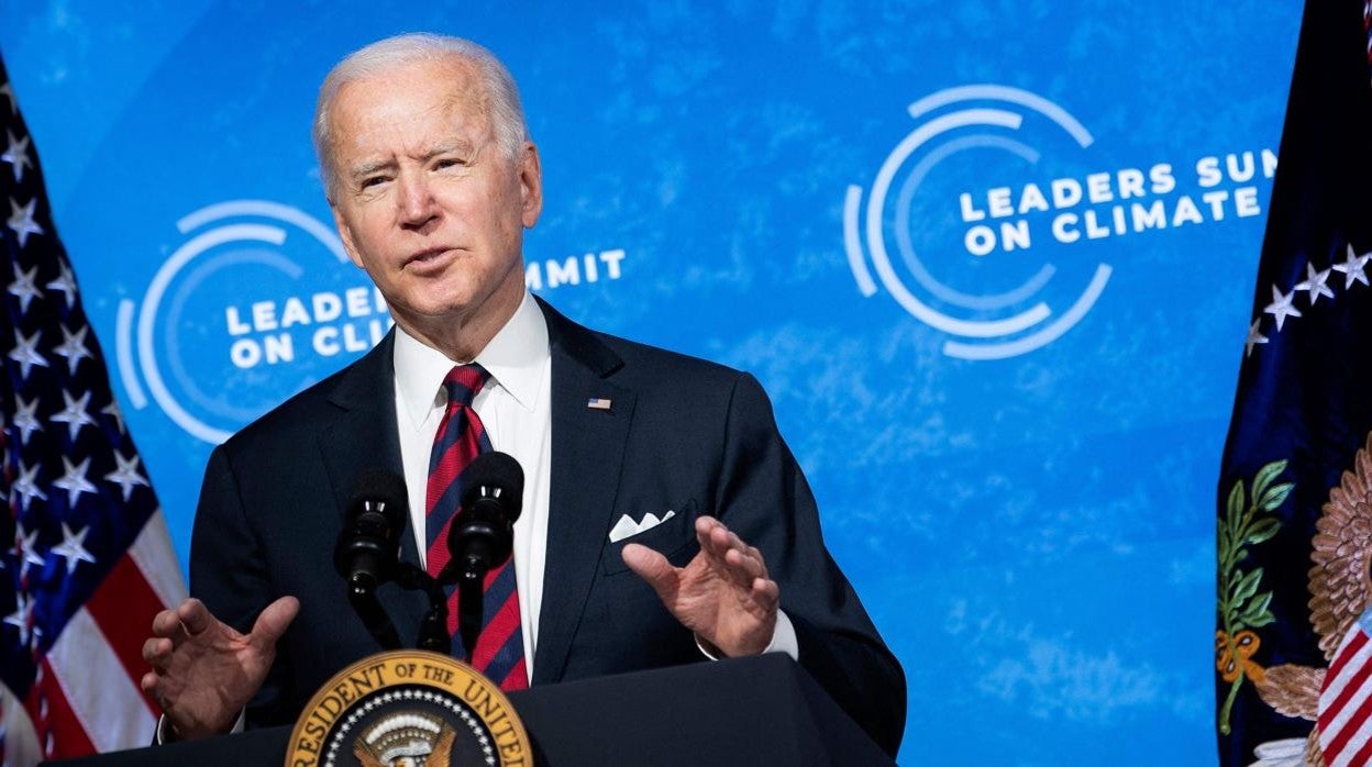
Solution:
[[[504,388],[520,408],[532,410],[546,375],[547,358],[547,321],[534,296],[525,291],[519,309],[476,355],[475,362],[491,375],[484,388]],[[460,364],[425,346],[405,332],[405,328],[395,327],[395,391],[409,413],[410,427],[418,429],[429,410],[440,403],[443,377],[453,365]]]

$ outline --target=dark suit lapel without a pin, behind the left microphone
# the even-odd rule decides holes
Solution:
[[[347,508],[354,483],[365,469],[380,467],[405,476],[395,425],[394,343],[395,331],[391,331],[376,349],[342,375],[328,397],[336,413],[320,431],[318,447],[339,513]],[[409,519],[406,515],[401,560],[418,565],[418,547]],[[402,642],[410,646],[428,606],[425,597],[420,591],[405,591],[391,583],[377,590],[377,598],[392,616]]]

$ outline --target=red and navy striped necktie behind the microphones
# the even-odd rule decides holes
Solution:
[[[429,575],[438,576],[447,565],[447,528],[462,502],[462,473],[480,453],[491,450],[482,418],[472,409],[472,399],[490,375],[477,364],[458,365],[443,379],[447,409],[434,436],[429,453],[429,477],[425,495],[425,563]],[[453,635],[453,656],[464,657],[462,638],[457,631],[457,586],[447,586],[447,630]],[[472,650],[471,664],[502,690],[528,686],[524,665],[524,634],[519,613],[519,590],[514,587],[514,557],[486,574],[482,635]]]

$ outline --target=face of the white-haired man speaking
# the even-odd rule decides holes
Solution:
[[[348,82],[329,107],[343,246],[421,340],[504,322],[523,298],[538,152],[505,156],[486,100],[475,69],[450,58]]]

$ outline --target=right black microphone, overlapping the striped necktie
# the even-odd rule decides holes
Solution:
[[[462,472],[462,506],[447,530],[451,560],[439,578],[457,580],[457,627],[466,657],[482,633],[486,574],[510,556],[524,505],[524,469],[505,453],[482,453]]]

